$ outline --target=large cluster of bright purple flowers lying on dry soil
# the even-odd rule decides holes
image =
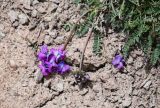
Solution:
[[[58,49],[51,48],[48,50],[47,45],[41,46],[41,50],[38,53],[38,59],[41,61],[39,68],[44,76],[48,76],[53,72],[64,74],[70,70],[70,66],[65,64],[64,59],[66,57],[66,51],[63,47]]]

